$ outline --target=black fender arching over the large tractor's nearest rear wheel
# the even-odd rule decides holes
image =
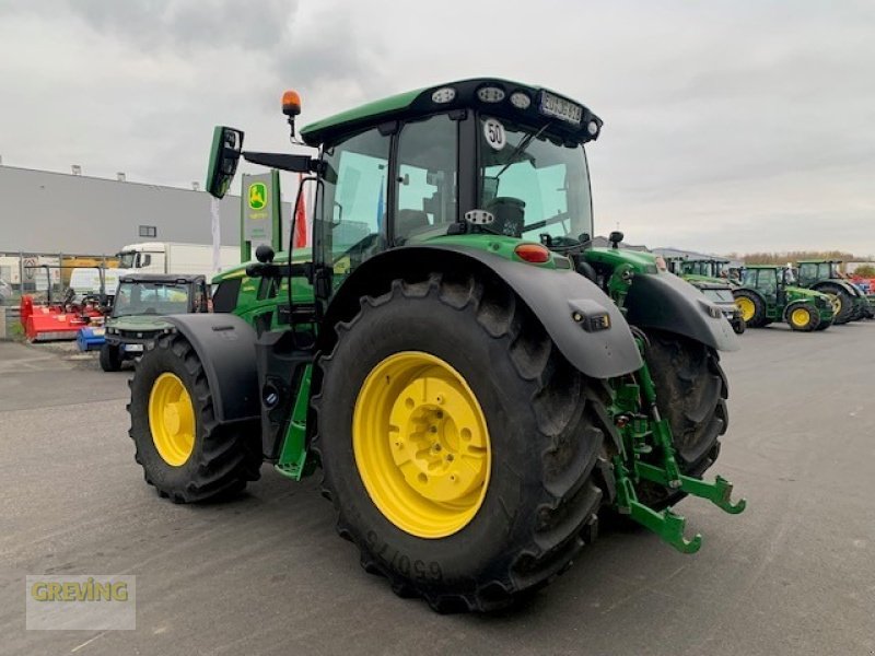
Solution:
[[[392,278],[472,269],[504,281],[538,317],[562,355],[593,378],[611,378],[642,366],[629,325],[593,282],[572,269],[548,269],[457,244],[405,246],[381,253],[350,274],[331,306],[359,306],[359,296],[388,288]],[[575,320],[574,316],[583,318]],[[585,330],[586,319],[607,315],[607,329]],[[342,317],[329,307],[327,316]]]

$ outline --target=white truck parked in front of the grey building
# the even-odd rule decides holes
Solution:
[[[118,268],[128,273],[191,273],[206,276],[218,271],[212,266],[212,246],[178,242],[128,244],[118,253]],[[220,248],[222,270],[240,263],[238,246]]]

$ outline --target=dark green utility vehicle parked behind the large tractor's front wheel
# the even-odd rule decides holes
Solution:
[[[203,276],[122,276],[106,319],[101,368],[117,372],[126,360],[142,355],[160,336],[173,332],[168,315],[208,311]]]

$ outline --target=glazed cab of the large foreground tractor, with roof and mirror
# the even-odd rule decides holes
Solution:
[[[296,110],[287,109],[293,122]],[[583,145],[600,127],[585,106],[551,91],[466,80],[303,128],[317,159],[243,152],[243,132],[217,128],[208,187],[221,197],[241,154],[315,174],[305,181],[317,187],[313,257],[296,272],[314,281],[325,312],[363,262],[399,246],[464,236],[512,260],[557,266],[549,248],[580,246],[593,234]]]

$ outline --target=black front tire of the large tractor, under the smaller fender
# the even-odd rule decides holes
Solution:
[[[161,429],[152,425],[156,413],[154,408],[150,410],[159,378],[167,374],[185,388],[195,424],[189,455],[187,458],[180,455],[173,464],[168,461],[166,448],[163,456],[159,450]],[[203,365],[183,336],[162,337],[154,349],[143,354],[129,385],[131,425],[128,434],[137,447],[135,457],[143,468],[145,482],[154,485],[161,496],[174,503],[207,501],[240,492],[248,481],[258,480],[261,466],[258,423],[217,423]],[[167,420],[170,424],[177,424],[171,432],[173,427],[178,432],[182,422],[176,419],[177,414],[182,413],[174,410]]]

